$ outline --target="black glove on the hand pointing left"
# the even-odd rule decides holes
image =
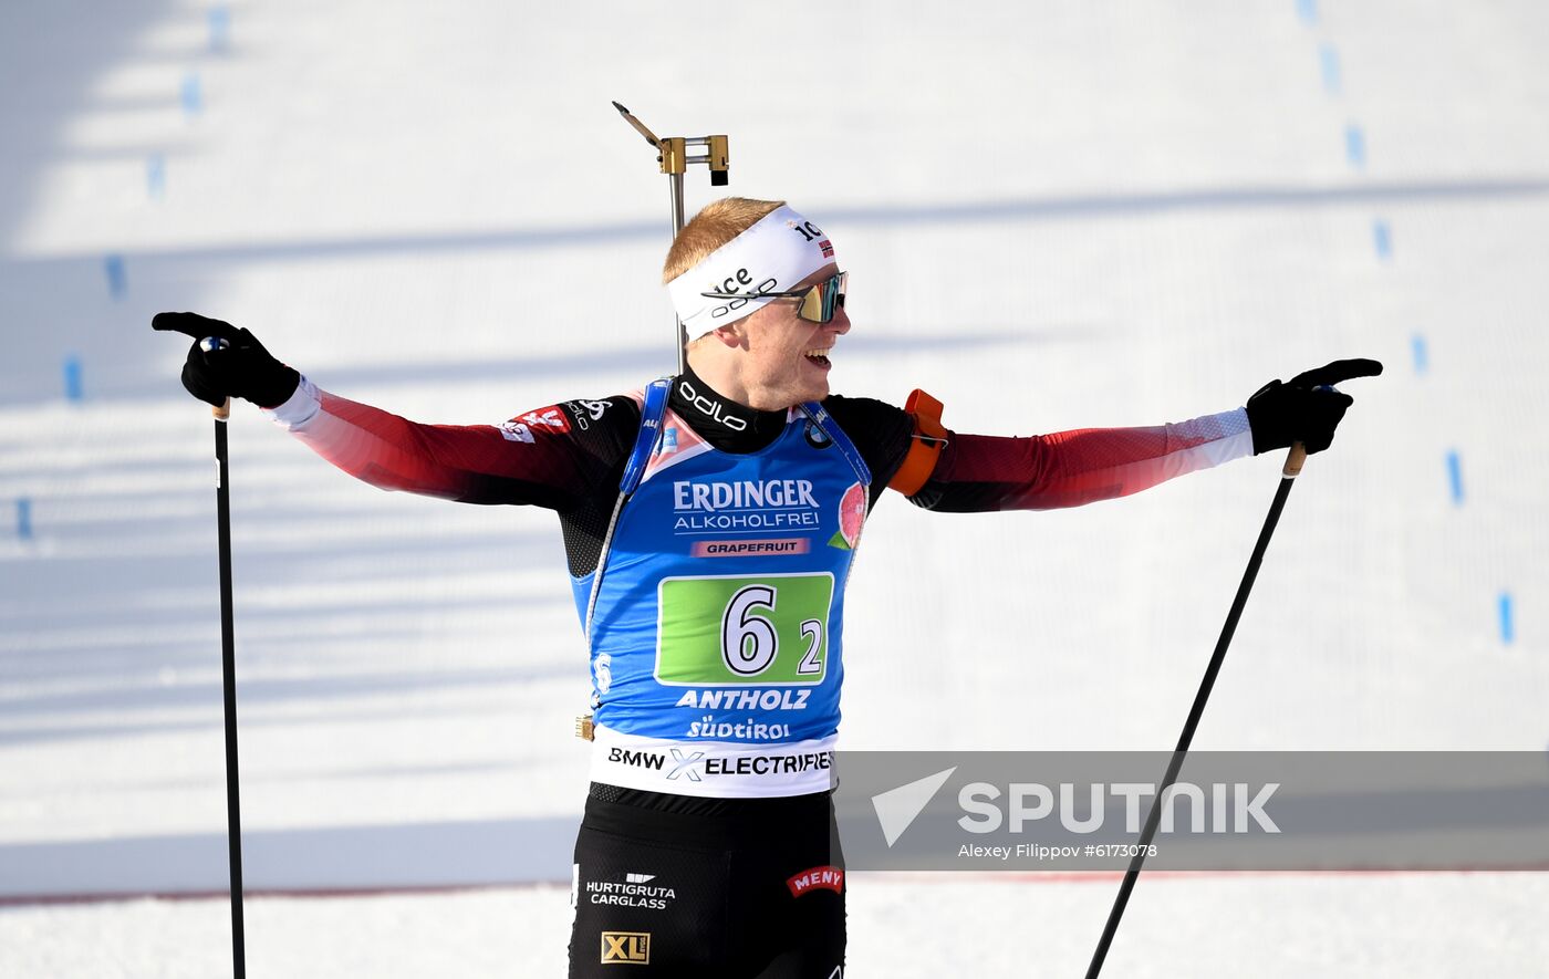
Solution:
[[[229,322],[198,313],[156,313],[152,330],[172,330],[194,338],[183,364],[183,387],[200,401],[220,406],[226,398],[246,398],[259,407],[276,407],[290,400],[301,384],[293,367],[276,361],[259,338]],[[217,350],[203,350],[206,336],[226,341]]]

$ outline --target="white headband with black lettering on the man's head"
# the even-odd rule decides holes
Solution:
[[[833,243],[781,206],[668,283],[689,336],[742,319],[773,299],[709,299],[700,293],[785,293],[833,262]]]

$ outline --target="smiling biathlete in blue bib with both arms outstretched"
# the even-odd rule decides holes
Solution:
[[[559,514],[593,739],[570,976],[843,976],[844,584],[884,490],[945,513],[1044,510],[1292,441],[1318,452],[1351,404],[1331,386],[1380,370],[1338,361],[1177,424],[968,435],[925,397],[905,410],[829,393],[846,279],[784,201],[714,201],[663,270],[697,336],[682,375],[474,426],[325,392],[222,321],[153,321],[195,338],[191,393],[259,404],[358,479]],[[226,345],[203,350],[209,336]]]

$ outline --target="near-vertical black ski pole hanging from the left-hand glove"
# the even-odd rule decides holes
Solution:
[[[206,352],[226,347],[226,341],[208,336],[200,341]],[[231,970],[235,979],[246,979],[246,937],[242,923],[242,798],[237,776],[237,643],[231,613],[231,480],[226,466],[226,418],[231,398],[211,409],[215,417],[215,525],[220,541],[220,686],[226,717],[226,858],[231,871]]]

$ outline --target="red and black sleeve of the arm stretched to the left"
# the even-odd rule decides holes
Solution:
[[[564,510],[596,485],[620,452],[592,417],[587,437],[578,438],[575,412],[596,404],[610,403],[555,404],[499,426],[423,424],[302,378],[296,395],[268,414],[318,455],[381,490]]]

